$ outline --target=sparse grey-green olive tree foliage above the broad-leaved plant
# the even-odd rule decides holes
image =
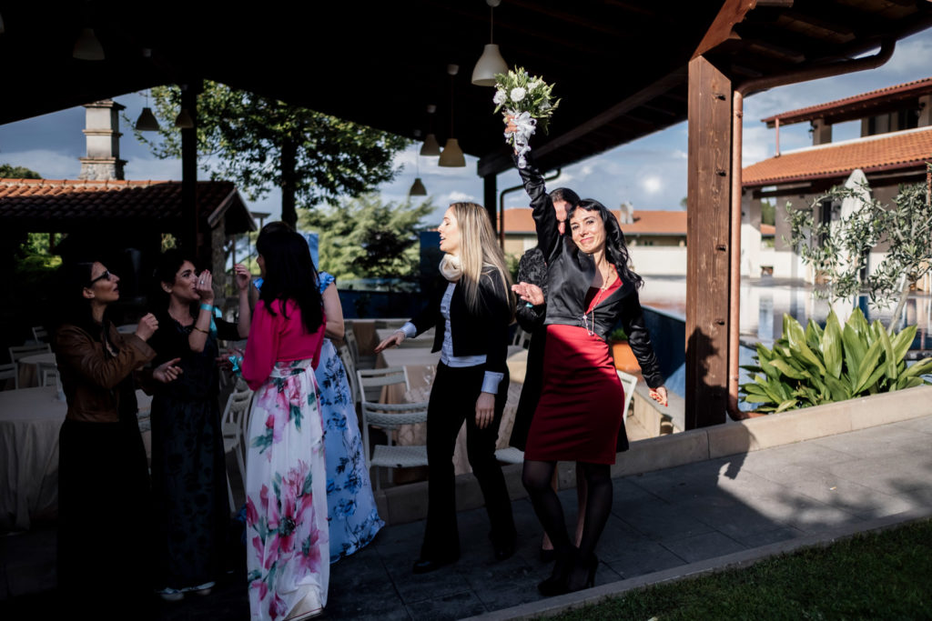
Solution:
[[[857,201],[849,215],[832,223],[816,222],[820,206],[845,198]],[[852,298],[866,286],[875,306],[897,300],[888,326],[896,330],[911,285],[932,269],[932,206],[925,183],[900,186],[889,209],[863,188],[843,187],[817,196],[807,209],[793,210],[789,204],[787,208],[793,250],[803,263],[828,278],[826,288],[816,290],[816,296],[835,302]],[[889,250],[883,262],[862,281],[870,250],[884,239]]]

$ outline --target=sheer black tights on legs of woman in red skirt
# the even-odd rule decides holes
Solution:
[[[576,467],[583,470],[583,477],[589,486],[583,519],[583,538],[580,540],[580,555],[588,558],[595,552],[598,538],[602,536],[611,513],[611,466],[576,462]],[[560,505],[560,499],[554,489],[550,487],[555,468],[556,462],[526,460],[521,482],[528,490],[534,512],[537,513],[538,520],[541,520],[543,530],[547,532],[554,548],[566,554],[572,548],[572,544],[567,534],[566,521],[563,519],[563,506]]]

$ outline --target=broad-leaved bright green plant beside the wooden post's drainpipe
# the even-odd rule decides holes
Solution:
[[[915,326],[888,334],[860,309],[844,327],[832,312],[825,329],[810,319],[805,331],[784,315],[773,349],[758,344],[757,364],[742,367],[754,374],[741,386],[743,398],[758,412],[776,413],[928,384],[920,376],[932,372],[932,358],[909,368],[903,359],[915,335]]]

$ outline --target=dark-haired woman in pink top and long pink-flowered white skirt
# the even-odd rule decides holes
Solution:
[[[256,241],[264,278],[242,376],[255,391],[246,460],[246,568],[253,619],[307,619],[327,600],[330,565],[323,427],[313,367],[324,315],[308,244]]]

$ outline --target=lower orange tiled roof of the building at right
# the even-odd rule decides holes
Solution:
[[[787,152],[748,166],[743,186],[757,187],[864,172],[925,168],[932,160],[932,128],[909,129],[879,136]]]

